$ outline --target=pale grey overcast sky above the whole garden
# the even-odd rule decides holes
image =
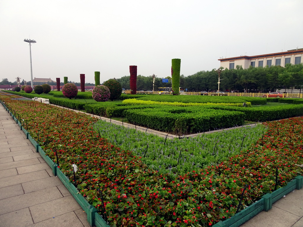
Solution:
[[[1,77],[95,83],[138,74],[185,76],[220,66],[218,59],[303,48],[302,0],[0,0]]]

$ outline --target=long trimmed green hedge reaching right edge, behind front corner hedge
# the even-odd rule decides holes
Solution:
[[[303,104],[286,105],[276,107],[229,107],[229,106],[205,106],[216,110],[240,111],[245,113],[245,120],[249,121],[272,121],[289,117],[303,116]]]

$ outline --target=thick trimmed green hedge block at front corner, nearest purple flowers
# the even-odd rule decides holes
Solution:
[[[159,107],[125,110],[128,121],[172,133],[199,133],[243,125],[245,114],[204,107]]]

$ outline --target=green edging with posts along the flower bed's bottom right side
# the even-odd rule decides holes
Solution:
[[[296,176],[285,187],[279,188],[272,193],[265,194],[259,201],[236,213],[231,218],[216,223],[213,227],[238,227],[257,215],[259,212],[270,210],[274,202],[278,201],[294,189],[301,189],[302,186],[303,176]]]

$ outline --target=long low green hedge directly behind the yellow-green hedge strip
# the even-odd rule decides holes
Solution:
[[[135,97],[134,97],[135,98]],[[244,103],[252,105],[266,104],[266,98],[238,97],[238,96],[205,96],[205,95],[150,95],[137,98],[138,100],[151,100],[158,102],[182,102],[182,103]]]

